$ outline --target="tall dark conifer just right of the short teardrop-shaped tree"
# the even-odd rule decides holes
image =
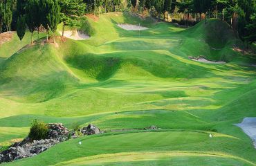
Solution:
[[[26,24],[28,26],[28,30],[31,33],[31,44],[33,44],[33,33],[37,26],[37,17],[35,17],[35,13],[39,12],[37,10],[37,1],[36,0],[28,0],[26,3]]]

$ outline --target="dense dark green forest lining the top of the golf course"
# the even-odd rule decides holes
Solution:
[[[44,28],[55,36],[61,22],[64,33],[65,26],[81,26],[86,13],[114,11],[136,12],[142,17],[152,15],[185,26],[202,19],[207,24],[207,18],[215,17],[228,22],[243,42],[250,44],[256,39],[255,0],[0,0],[0,32],[17,30],[22,39],[26,29],[33,34]]]

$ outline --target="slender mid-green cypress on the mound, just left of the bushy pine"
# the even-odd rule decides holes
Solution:
[[[51,30],[53,31],[53,42],[55,43],[55,36],[57,25],[60,24],[61,17],[60,17],[60,5],[59,1],[57,0],[49,0],[49,12],[47,14],[48,25],[50,26]]]

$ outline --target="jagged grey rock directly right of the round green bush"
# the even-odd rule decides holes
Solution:
[[[62,123],[48,123],[47,139],[54,139],[60,142],[68,140],[70,131]]]

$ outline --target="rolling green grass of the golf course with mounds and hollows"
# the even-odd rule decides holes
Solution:
[[[0,148],[35,119],[104,133],[1,165],[256,165],[253,140],[235,125],[256,117],[256,55],[235,49],[242,42],[225,21],[86,19],[95,30],[86,39],[34,33],[29,44],[30,33],[12,33],[0,45]]]

